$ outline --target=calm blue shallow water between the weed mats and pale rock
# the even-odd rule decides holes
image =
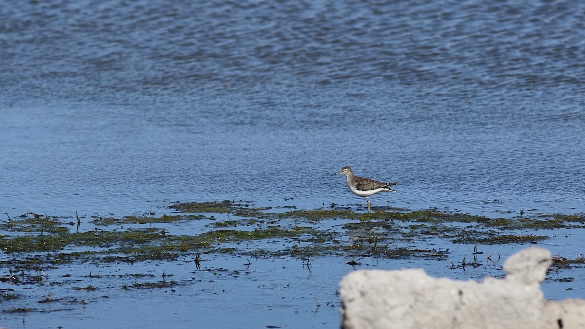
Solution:
[[[212,219],[161,222],[149,226],[164,227],[169,234],[190,236],[205,231],[203,225],[230,218],[235,217],[215,214]],[[343,227],[348,222],[352,221],[335,219],[278,224],[284,227],[291,224],[311,225],[337,232],[338,239],[343,240],[352,239],[352,234]],[[411,224],[416,222],[393,222],[393,225],[405,228]],[[465,226],[469,223],[449,225]],[[81,227],[90,229],[92,225],[84,221]],[[140,228],[144,224],[113,225],[104,229],[122,230],[128,227]],[[574,259],[583,250],[580,246],[584,238],[582,227],[533,232],[549,236],[539,245],[550,249],[555,255]],[[523,235],[530,232],[517,230],[506,233]],[[474,258],[473,245],[453,244],[439,236],[423,235],[409,240],[395,238],[390,248],[449,249],[449,253],[441,258],[416,256],[411,259],[321,256],[310,258],[308,262],[306,258],[253,256],[257,249],[278,250],[288,245],[307,243],[301,242],[302,239],[275,238],[238,242],[239,250],[249,251],[245,256],[202,255],[200,268],[193,253],[183,253],[174,261],[128,262],[123,261],[126,258],[122,257],[119,262],[95,258],[94,261],[80,259],[57,266],[47,264],[49,268],[38,273],[41,278],[39,283],[0,283],[2,296],[6,293],[20,296],[15,300],[4,299],[4,310],[15,307],[35,309],[27,313],[0,313],[0,323],[9,328],[54,328],[59,325],[90,328],[95,324],[111,328],[192,328],[202,325],[217,328],[338,327],[339,280],[353,270],[424,268],[435,277],[481,281],[486,276],[502,277],[505,259],[531,245],[477,245],[477,252],[480,253]],[[223,242],[222,246],[232,245]],[[75,247],[63,252],[87,249]],[[2,254],[1,259],[9,261],[12,257],[17,256]],[[356,261],[358,265],[350,266],[347,264],[349,261]],[[460,264],[463,261],[468,265],[462,267]],[[477,262],[477,266],[469,265],[472,261]],[[43,265],[39,263],[39,266]],[[11,275],[19,276],[19,273]],[[542,290],[547,299],[583,298],[584,280],[582,266],[551,270],[542,283]],[[79,290],[90,286],[95,289]],[[5,289],[13,290],[7,292]],[[51,301],[43,303],[47,298]]]

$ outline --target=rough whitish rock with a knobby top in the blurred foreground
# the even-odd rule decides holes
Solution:
[[[340,283],[342,328],[585,328],[585,300],[543,300],[550,256],[523,249],[504,262],[504,279],[483,282],[422,269],[357,270]]]

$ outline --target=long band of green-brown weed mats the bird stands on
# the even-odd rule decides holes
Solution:
[[[0,248],[7,254],[46,252],[50,263],[73,262],[75,259],[104,262],[136,262],[148,259],[177,259],[182,253],[238,253],[244,252],[239,244],[247,241],[265,239],[297,239],[304,242],[302,248],[286,247],[282,251],[268,252],[263,255],[360,255],[380,257],[424,256],[432,252],[405,250],[402,247],[384,249],[381,246],[400,241],[412,241],[425,237],[445,239],[457,244],[516,244],[535,243],[547,237],[533,234],[507,234],[510,230],[551,229],[576,227],[583,215],[555,215],[554,217],[486,218],[461,213],[448,213],[436,208],[427,210],[398,210],[397,208],[374,208],[371,213],[356,213],[350,209],[331,208],[318,210],[292,210],[283,213],[269,213],[268,208],[256,208],[241,201],[221,201],[207,203],[176,203],[170,206],[183,214],[162,215],[161,217],[122,218],[95,216],[93,225],[109,227],[125,225],[118,229],[94,228],[84,232],[70,232],[63,226],[63,218],[27,214],[18,220],[1,224],[8,232],[25,232],[24,235],[0,236]],[[225,220],[216,221],[215,217],[190,213],[225,213]],[[230,217],[230,214],[231,217]],[[65,219],[66,220],[66,219]],[[169,224],[180,221],[209,220],[205,226],[211,228],[204,232],[188,235],[171,235],[167,228],[156,226],[133,228],[137,224]],[[299,220],[308,225],[298,225]],[[316,228],[318,222],[325,220],[350,221],[342,224],[343,231],[336,232]],[[73,225],[73,221],[67,223]],[[467,224],[462,226],[460,224]],[[253,229],[236,229],[249,227]],[[579,225],[578,227],[581,227]],[[372,245],[372,238],[375,244]],[[222,244],[232,244],[222,246]],[[235,244],[235,245],[233,245]],[[65,249],[81,246],[103,249],[83,252],[65,252]],[[402,249],[401,249],[402,248]],[[260,249],[260,248],[258,248]],[[51,255],[51,253],[58,254]],[[246,251],[249,252],[249,251]],[[36,256],[32,256],[35,258]],[[20,258],[25,262],[24,258]],[[45,259],[26,260],[27,266],[42,267]],[[10,263],[10,262],[9,262]],[[24,263],[23,263],[24,265]]]

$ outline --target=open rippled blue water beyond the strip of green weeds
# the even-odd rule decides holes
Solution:
[[[13,1],[0,212],[174,201],[585,211],[585,5]],[[4,215],[3,215],[4,216]]]

